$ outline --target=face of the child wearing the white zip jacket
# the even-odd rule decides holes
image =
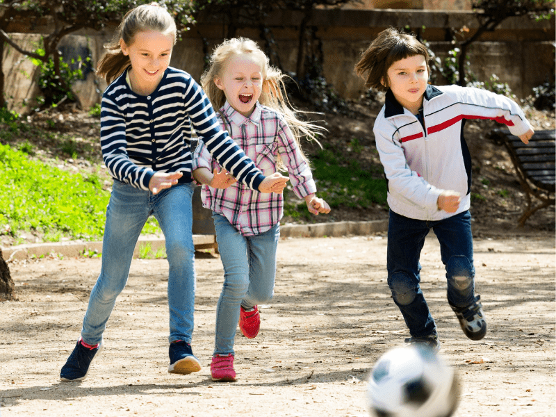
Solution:
[[[409,56],[395,61],[388,69],[388,86],[398,102],[417,114],[423,104],[429,72],[423,55]],[[386,85],[383,80],[383,85]]]

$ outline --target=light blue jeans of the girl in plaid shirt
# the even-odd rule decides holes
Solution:
[[[240,305],[245,309],[272,300],[280,225],[243,236],[223,215],[213,213],[216,241],[224,266],[224,285],[216,306],[214,354],[234,354]]]

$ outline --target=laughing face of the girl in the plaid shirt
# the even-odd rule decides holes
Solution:
[[[229,58],[215,85],[224,92],[230,106],[249,117],[263,88],[263,67],[253,56],[240,54]]]

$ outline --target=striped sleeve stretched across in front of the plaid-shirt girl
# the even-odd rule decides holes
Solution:
[[[252,190],[258,191],[259,185],[265,179],[261,170],[229,137],[227,131],[220,128],[211,102],[193,79],[186,90],[184,99],[197,136],[204,142],[208,152],[238,181],[243,182]]]

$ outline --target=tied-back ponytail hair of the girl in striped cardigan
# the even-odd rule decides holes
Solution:
[[[131,65],[129,56],[122,52],[120,39],[130,46],[133,44],[135,35],[142,31],[173,34],[174,44],[176,43],[176,22],[172,15],[158,3],[142,4],[129,10],[117,27],[112,41],[104,45],[108,52],[97,65],[97,75],[104,77],[108,84]]]

